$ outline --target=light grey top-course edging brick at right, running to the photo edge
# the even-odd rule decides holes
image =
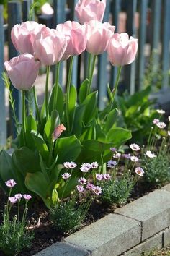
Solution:
[[[170,226],[170,192],[158,189],[115,213],[142,223],[142,241]]]

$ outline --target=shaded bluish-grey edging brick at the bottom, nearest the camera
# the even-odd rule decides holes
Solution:
[[[50,247],[43,249],[34,256],[89,256],[90,253],[85,249],[81,249],[68,244],[66,242],[58,242]]]

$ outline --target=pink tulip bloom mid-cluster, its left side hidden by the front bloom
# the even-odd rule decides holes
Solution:
[[[62,61],[81,54],[86,49],[86,25],[78,22],[67,21],[57,25],[59,33],[63,33],[68,38],[68,46],[63,54]]]

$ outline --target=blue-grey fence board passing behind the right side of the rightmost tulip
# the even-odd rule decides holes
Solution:
[[[128,35],[135,36],[135,12],[137,7],[137,0],[128,0],[127,22],[126,30]],[[125,88],[130,94],[135,93],[135,62],[125,67]]]

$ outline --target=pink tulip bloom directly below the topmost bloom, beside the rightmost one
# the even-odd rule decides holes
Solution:
[[[108,22],[101,23],[91,20],[87,25],[86,51],[98,55],[107,49],[109,38],[114,34],[115,27]]]

